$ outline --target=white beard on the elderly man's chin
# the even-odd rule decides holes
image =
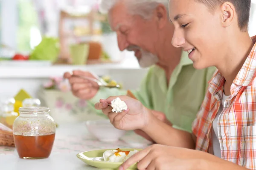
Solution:
[[[147,68],[149,66],[156,64],[159,61],[157,55],[154,55],[151,52],[145,52],[143,49],[140,49],[140,51],[141,58],[138,60],[140,67]]]

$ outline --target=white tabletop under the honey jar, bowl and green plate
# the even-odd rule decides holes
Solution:
[[[49,158],[20,159],[13,148],[0,147],[0,170],[97,170],[79,160],[76,154],[118,147],[145,148],[149,144],[150,142],[133,132],[128,132],[120,141],[103,143],[90,135],[83,124],[62,125],[56,130],[55,143]]]

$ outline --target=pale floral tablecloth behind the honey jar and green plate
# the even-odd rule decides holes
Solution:
[[[113,148],[145,148],[151,142],[136,135],[134,132],[127,132],[119,141],[102,142],[91,135],[83,123],[65,124],[57,128],[52,153],[83,152],[98,149]],[[1,147],[0,155],[14,155],[14,147]]]

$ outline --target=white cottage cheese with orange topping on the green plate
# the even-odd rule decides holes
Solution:
[[[138,150],[123,151],[123,150],[120,150],[119,148],[116,150],[106,150],[103,153],[103,158],[104,158],[104,161],[106,162],[124,162],[137,152],[139,151]]]

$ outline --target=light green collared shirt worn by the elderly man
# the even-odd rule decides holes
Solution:
[[[164,112],[173,127],[191,132],[192,121],[201,106],[208,81],[214,72],[215,67],[195,69],[187,52],[183,52],[180,63],[172,73],[169,86],[165,71],[155,65],[148,70],[140,89],[132,92],[145,107]],[[94,104],[99,102],[99,99],[126,95],[126,92],[126,90],[101,88],[96,96],[88,101],[88,105],[94,108]],[[101,110],[96,112],[103,114]]]

